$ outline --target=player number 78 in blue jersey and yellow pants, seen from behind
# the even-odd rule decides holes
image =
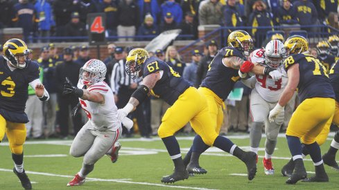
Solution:
[[[269,119],[275,120],[275,117],[284,110],[284,106],[293,96],[296,88],[301,102],[290,118],[286,131],[288,148],[295,165],[293,174],[286,183],[295,184],[307,176],[300,140],[308,149],[315,165],[315,177],[305,181],[315,182],[320,179],[328,181],[316,137],[333,118],[336,105],[333,88],[326,68],[320,61],[311,55],[303,54],[308,52],[308,42],[304,37],[297,35],[289,37],[284,45],[291,54],[284,61],[288,84],[277,106],[270,111]],[[326,109],[318,109],[320,107]]]

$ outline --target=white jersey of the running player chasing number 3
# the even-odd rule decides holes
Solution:
[[[78,88],[82,85],[78,83]],[[85,111],[91,127],[98,131],[116,131],[121,126],[121,122],[117,121],[117,111],[113,92],[105,82],[97,82],[87,88],[87,91],[101,93],[105,99],[104,104],[89,102],[79,98],[82,109]]]

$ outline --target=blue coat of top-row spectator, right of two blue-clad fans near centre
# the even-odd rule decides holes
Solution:
[[[162,3],[161,10],[162,18],[166,16],[167,12],[171,12],[175,23],[181,23],[183,15],[182,8],[180,7],[179,3],[175,2],[175,0],[167,0],[164,3]]]

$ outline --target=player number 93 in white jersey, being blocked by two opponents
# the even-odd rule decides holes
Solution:
[[[281,73],[281,78],[273,79],[269,75],[255,75],[243,80],[244,84],[254,88],[251,93],[250,111],[252,113],[252,127],[250,130],[250,151],[258,154],[262,127],[265,124],[266,142],[263,165],[266,175],[274,174],[272,167],[272,153],[275,151],[277,136],[281,124],[284,122],[284,112],[280,113],[274,122],[268,121],[270,110],[277,104],[280,94],[284,90],[288,78],[282,64],[286,55],[284,44],[279,40],[268,42],[265,50],[254,50],[249,59],[253,63],[268,65]]]

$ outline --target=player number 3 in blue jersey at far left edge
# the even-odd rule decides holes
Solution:
[[[35,89],[42,101],[49,99],[49,93],[39,79],[39,66],[28,59],[26,44],[21,39],[10,39],[3,44],[0,57],[0,142],[6,133],[15,163],[13,172],[24,189],[32,185],[24,170],[23,144],[26,140],[28,117],[25,111],[28,99],[28,85]]]

